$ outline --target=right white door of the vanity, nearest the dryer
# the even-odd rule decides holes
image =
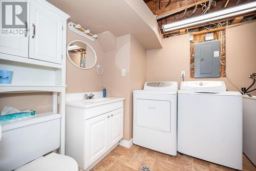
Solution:
[[[110,115],[110,148],[123,138],[123,108],[112,111]]]

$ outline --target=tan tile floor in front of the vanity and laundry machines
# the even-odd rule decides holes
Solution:
[[[134,171],[140,170],[143,165],[147,165],[153,171],[234,170],[187,155],[169,156],[138,145],[133,145],[131,148],[118,145],[91,170]],[[247,171],[256,171],[256,167],[245,155],[243,156],[243,168]]]

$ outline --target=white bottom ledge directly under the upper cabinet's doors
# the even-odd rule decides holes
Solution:
[[[27,57],[14,56],[14,55],[9,55],[5,53],[0,53],[0,59],[21,62],[21,63],[29,63],[32,65],[45,66],[45,67],[51,67],[51,68],[59,68],[59,69],[62,68],[62,65],[58,63],[36,60],[36,59],[27,58]]]

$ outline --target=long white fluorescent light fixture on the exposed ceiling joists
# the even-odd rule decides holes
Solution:
[[[256,2],[247,3],[237,7],[227,8],[224,10],[184,19],[179,22],[166,24],[166,25],[163,25],[163,31],[168,32],[168,31],[178,30],[178,29],[187,28],[191,26],[196,26],[199,24],[208,23],[215,20],[242,15],[255,10],[256,10]]]

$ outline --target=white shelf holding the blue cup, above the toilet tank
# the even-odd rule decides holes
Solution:
[[[0,93],[61,92],[66,85],[15,85],[0,84]]]

